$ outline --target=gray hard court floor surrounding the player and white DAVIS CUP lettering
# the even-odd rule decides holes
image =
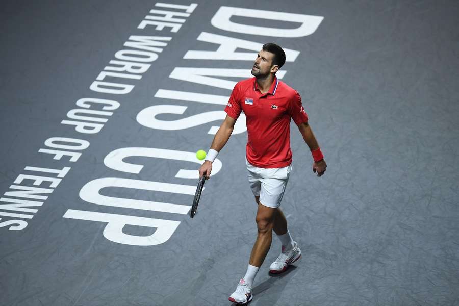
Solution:
[[[281,69],[287,71],[283,81],[302,95],[328,164],[325,175],[316,177],[309,149],[292,122],[293,172],[282,208],[303,256],[281,276],[268,275],[281,247],[273,237],[250,304],[459,305],[459,3],[194,2],[197,7],[188,17],[175,17],[186,19],[175,23],[182,24],[176,32],[153,25],[138,28],[151,9],[166,9],[156,2],[2,3],[0,304],[232,304],[228,296],[245,273],[257,235],[257,207],[244,164],[246,133],[233,135],[220,152],[221,169],[206,183],[193,219],[167,208],[159,211],[155,202],[191,206],[193,195],[186,191],[195,188],[197,179],[176,173],[196,170],[196,161],[126,157],[124,162],[143,165],[137,172],[104,164],[110,152],[122,148],[154,148],[148,152],[169,156],[181,151],[182,157],[189,156],[183,152],[209,148],[213,134],[208,131],[222,117],[221,112],[213,113],[217,119],[207,112],[222,111],[224,101],[155,97],[160,89],[231,93],[223,86],[169,77],[176,67],[249,72],[251,60],[184,58],[189,50],[217,50],[218,44],[197,40],[206,32],[272,41],[300,52]],[[222,6],[323,20],[314,33],[300,37],[238,33],[211,23]],[[300,26],[262,18],[272,13],[251,12],[231,21],[284,30]],[[138,74],[141,79],[103,80],[134,85],[129,93],[91,90],[117,52],[134,49],[123,45],[133,35],[171,40],[148,70]],[[245,77],[215,78],[236,82]],[[72,120],[69,111],[82,109],[76,103],[83,98],[119,103],[108,110],[110,115],[88,115],[108,119],[98,133],[80,133],[75,125],[61,123]],[[151,115],[152,122],[164,123],[162,128],[139,123],[140,112],[161,105],[186,110]],[[177,121],[199,114],[205,115]],[[49,141],[55,137],[89,146],[53,148]],[[69,155],[57,160],[40,149],[81,155],[74,162]],[[70,169],[58,180],[57,173],[26,167]],[[39,182],[24,175],[50,179]],[[94,180],[108,185],[94,191]],[[52,192],[31,194],[17,189],[21,186]],[[164,186],[175,187],[166,192]],[[95,199],[88,201],[87,194]],[[69,217],[75,211],[80,217]],[[122,230],[124,242],[112,241],[121,235],[113,226],[116,220],[131,220]],[[176,229],[163,243],[144,239],[152,245],[132,245],[129,237],[155,237],[151,235],[159,231],[135,225],[139,220],[163,220]]]

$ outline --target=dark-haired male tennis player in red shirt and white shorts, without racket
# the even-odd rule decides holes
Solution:
[[[282,242],[282,252],[269,267],[271,273],[282,273],[301,257],[293,241],[287,220],[279,208],[292,170],[290,119],[298,126],[309,146],[314,163],[312,169],[321,176],[327,167],[322,152],[308,124],[296,90],[279,81],[275,74],[285,63],[284,50],[273,43],[263,45],[252,67],[254,78],[236,84],[226,105],[227,116],[212,141],[199,175],[212,171],[212,162],[233,132],[241,111],[247,124],[246,166],[248,181],[258,203],[258,236],[250,254],[245,276],[230,296],[230,301],[247,304],[252,299],[252,284],[271,247],[272,231]]]

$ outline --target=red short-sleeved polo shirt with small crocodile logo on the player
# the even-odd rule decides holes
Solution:
[[[292,162],[290,118],[296,124],[308,122],[299,93],[274,78],[265,94],[256,78],[238,82],[225,112],[237,119],[244,111],[247,124],[247,161],[261,168],[281,168]]]

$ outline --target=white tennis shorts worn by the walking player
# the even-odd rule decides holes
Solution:
[[[260,203],[264,206],[279,207],[289,181],[292,164],[283,168],[259,168],[251,165],[247,159],[245,159],[245,164],[253,195],[260,196]]]

